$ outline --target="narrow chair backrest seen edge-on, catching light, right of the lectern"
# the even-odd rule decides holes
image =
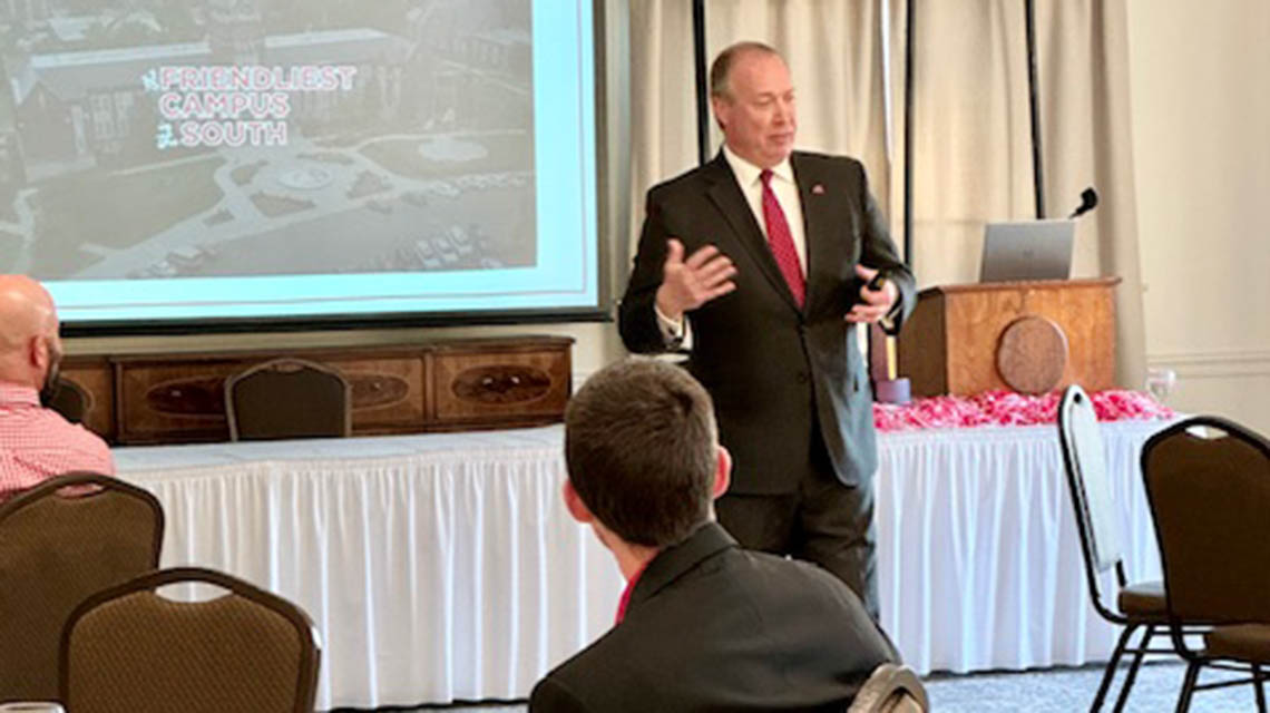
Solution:
[[[1106,572],[1123,557],[1120,530],[1099,418],[1090,395],[1076,384],[1058,404],[1058,435],[1086,566]]]

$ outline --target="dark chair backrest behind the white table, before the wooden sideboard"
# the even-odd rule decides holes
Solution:
[[[225,380],[235,441],[348,436],[352,402],[352,389],[338,371],[297,358],[258,363]]]

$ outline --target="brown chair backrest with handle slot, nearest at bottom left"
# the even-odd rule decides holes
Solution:
[[[227,591],[173,601],[157,587]],[[220,572],[164,569],[98,592],[62,633],[61,699],[75,713],[311,712],[319,646],[309,615]]]

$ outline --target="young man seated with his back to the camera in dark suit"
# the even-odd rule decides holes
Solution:
[[[629,583],[617,625],[538,681],[531,713],[841,712],[895,658],[850,587],[712,521],[730,459],[682,369],[634,357],[592,376],[565,460],[569,512]]]

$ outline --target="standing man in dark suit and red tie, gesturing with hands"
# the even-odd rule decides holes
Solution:
[[[649,191],[622,341],[687,347],[735,454],[718,505],[728,531],[819,563],[876,616],[878,456],[855,327],[898,329],[913,275],[860,163],[792,151],[794,89],[775,50],[729,47],[710,85],[724,149]]]

